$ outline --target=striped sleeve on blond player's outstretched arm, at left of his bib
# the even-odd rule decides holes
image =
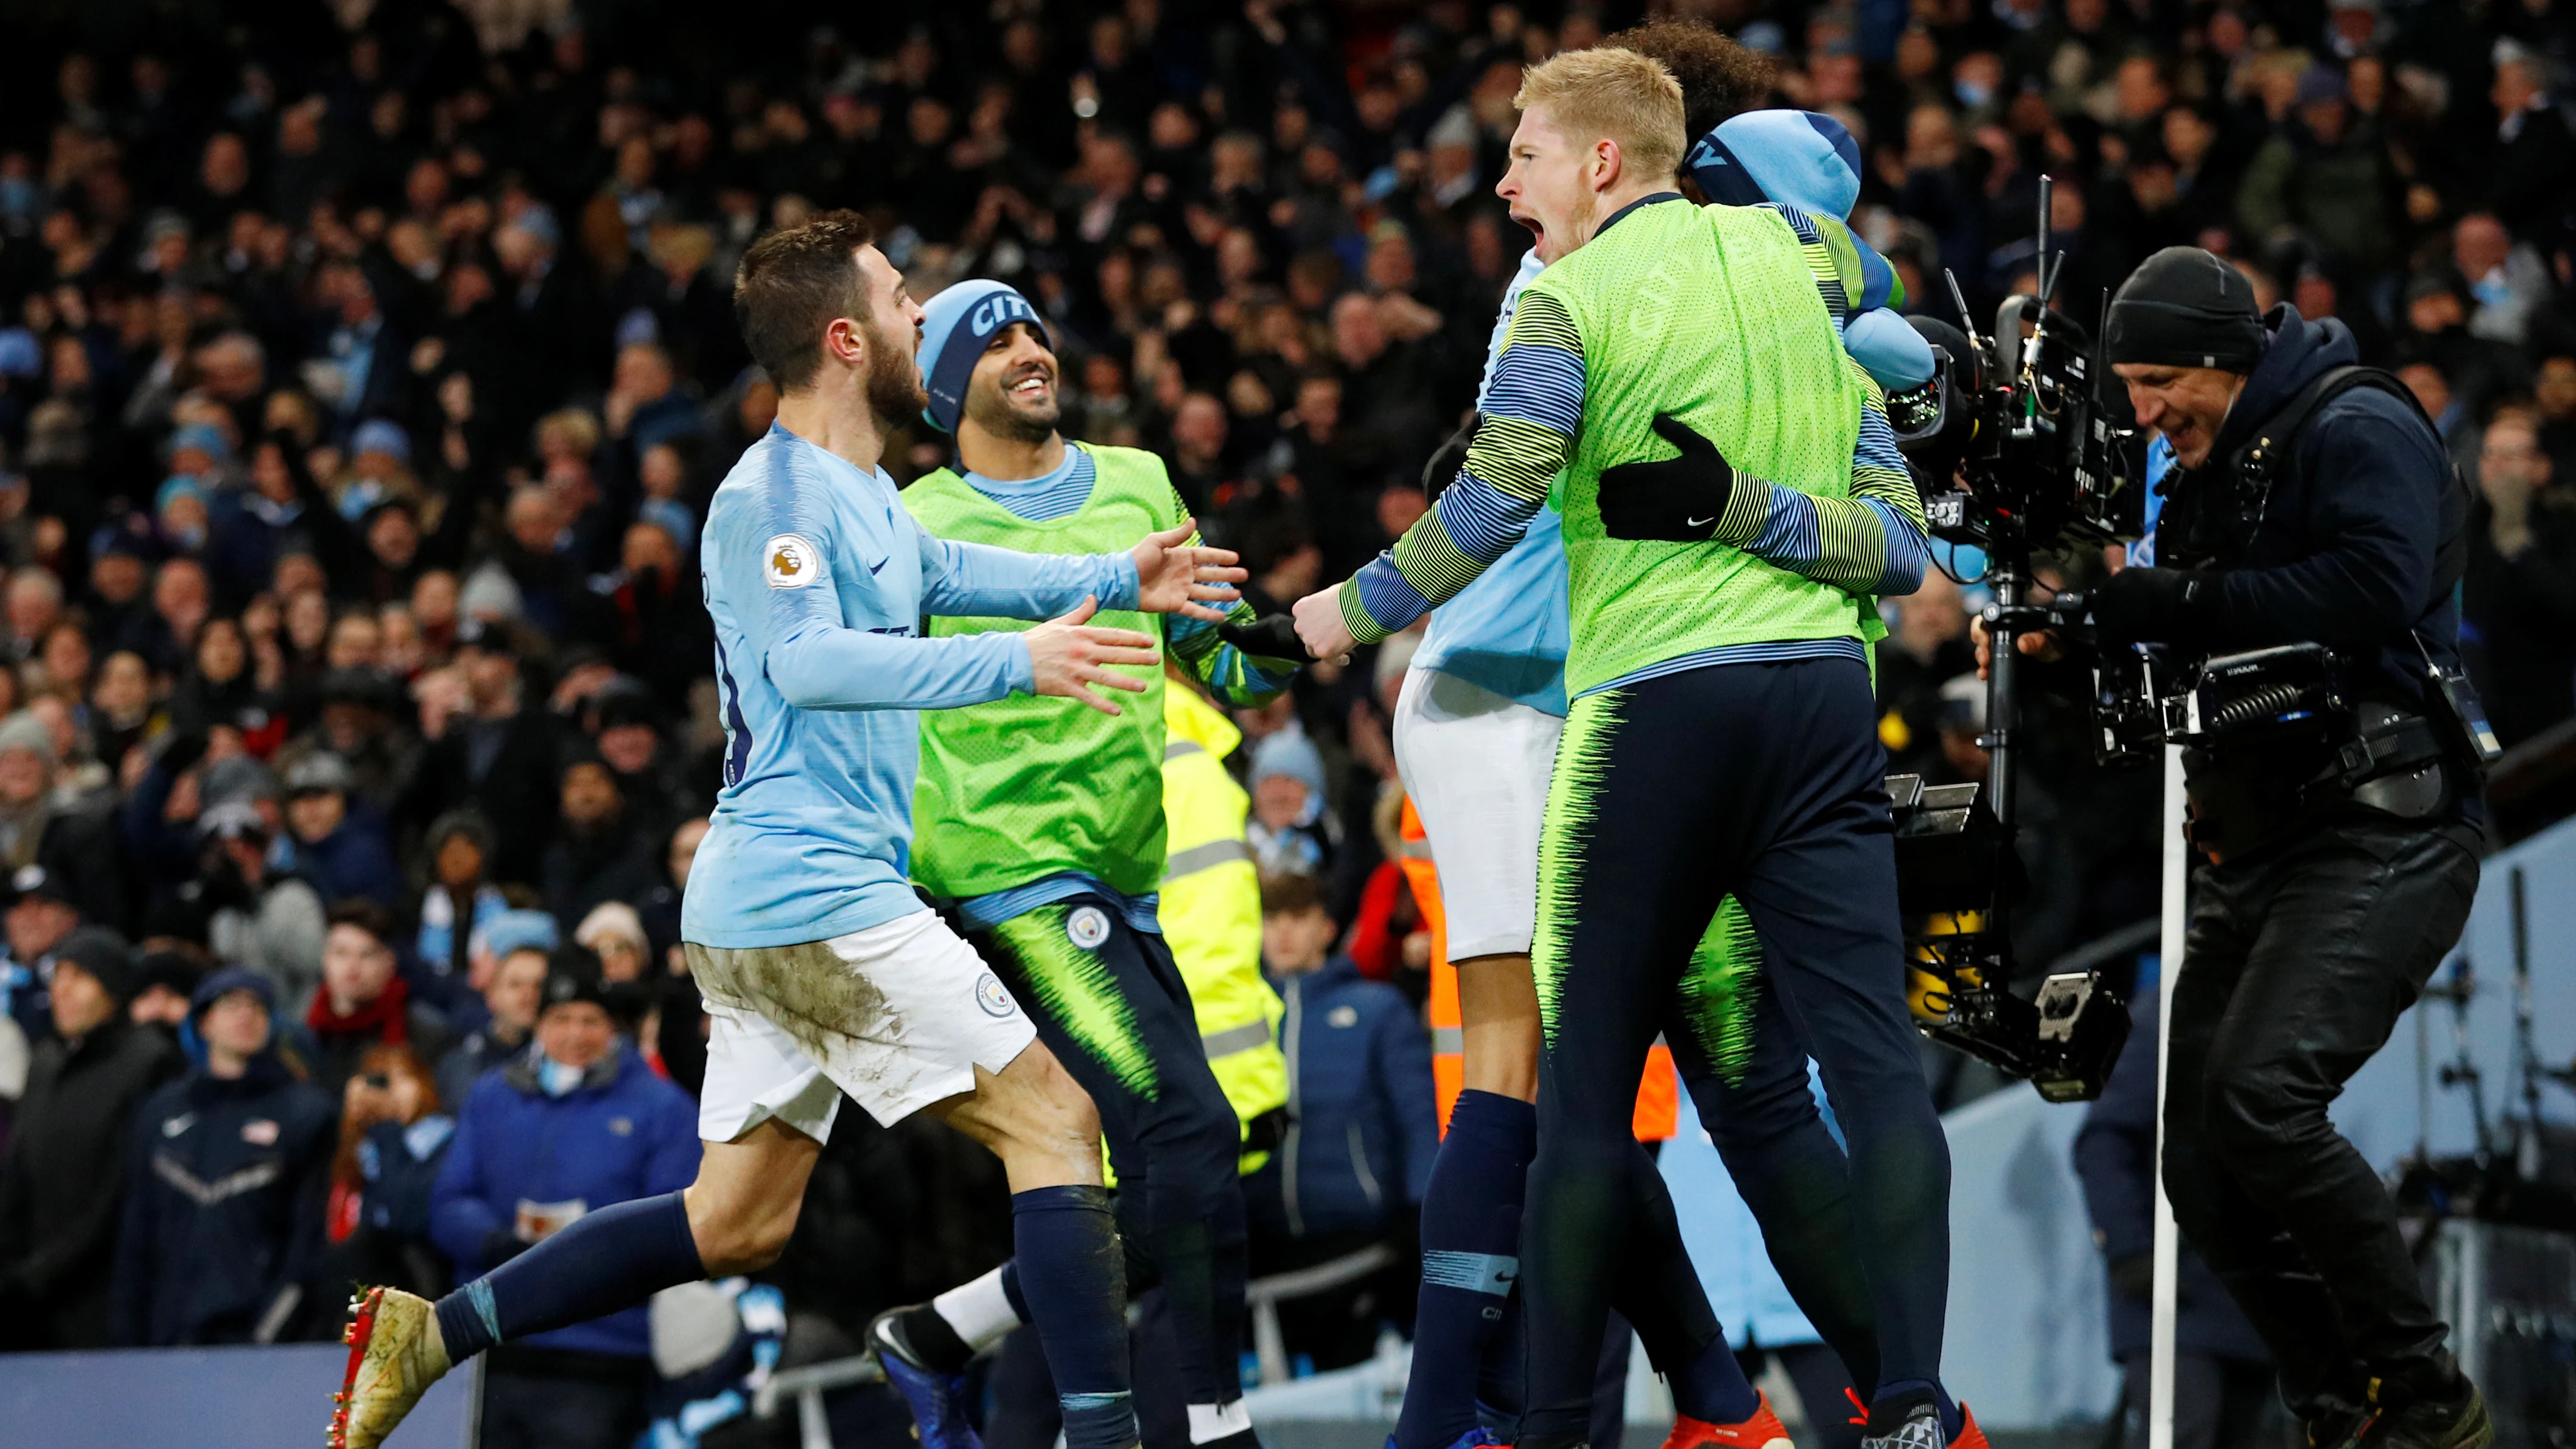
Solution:
[[[1546,507],[1584,417],[1584,342],[1553,293],[1520,296],[1481,412],[1458,481],[1394,548],[1342,584],[1342,623],[1360,643],[1455,597],[1520,543]]]

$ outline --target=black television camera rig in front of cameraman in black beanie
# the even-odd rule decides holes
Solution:
[[[1976,543],[1986,551],[1984,610],[1986,669],[1986,785],[1924,788],[1911,775],[1888,780],[1896,816],[1899,903],[1906,914],[1919,1029],[1999,1071],[2030,1078],[2050,1102],[2089,1102],[2102,1094],[2120,1045],[2128,1040],[2128,1004],[2099,970],[2050,975],[2035,999],[2009,991],[2012,945],[2007,919],[2022,893],[2022,865],[2012,849],[2020,762],[2020,638],[2074,623],[2061,607],[2032,602],[2032,553],[2058,540],[2112,543],[2123,512],[2136,504],[2123,445],[2094,401],[2092,340],[2048,306],[2063,255],[2050,255],[2048,208],[2053,180],[2040,178],[2035,296],[2007,299],[1994,335],[1978,337],[1958,278],[1945,273],[1968,340],[1968,383],[1955,414],[1942,409],[1942,432],[1958,450],[1958,481],[1924,497],[1935,538]],[[1947,386],[1935,376],[1932,389]],[[1965,432],[1960,432],[1965,430]],[[1929,443],[1929,440],[1927,440]],[[1937,479],[1935,484],[1950,484]],[[1984,800],[1978,798],[1984,795]]]

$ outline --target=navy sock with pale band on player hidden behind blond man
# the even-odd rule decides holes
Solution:
[[[1520,1277],[1520,1194],[1538,1109],[1461,1091],[1422,1194],[1422,1297],[1396,1449],[1448,1449],[1476,1428],[1476,1369]]]

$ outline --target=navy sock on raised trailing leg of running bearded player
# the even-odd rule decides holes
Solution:
[[[587,1323],[703,1277],[677,1192],[618,1202],[440,1297],[438,1338],[461,1364],[492,1343]]]

